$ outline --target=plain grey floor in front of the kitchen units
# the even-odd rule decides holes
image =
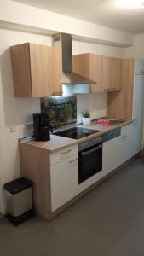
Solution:
[[[0,219],[1,256],[144,256],[144,163],[130,162],[51,222]]]

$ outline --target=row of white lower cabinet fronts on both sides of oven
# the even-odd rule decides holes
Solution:
[[[141,122],[135,119],[121,128],[121,135],[103,143],[102,171],[78,185],[78,146],[66,148],[50,156],[52,212],[78,193],[129,160],[142,148]]]

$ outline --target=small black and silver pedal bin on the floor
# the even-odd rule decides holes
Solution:
[[[20,177],[4,185],[7,201],[6,218],[17,226],[22,224],[34,214],[32,206],[32,181]]]

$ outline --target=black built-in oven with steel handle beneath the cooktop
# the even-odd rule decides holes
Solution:
[[[78,144],[78,183],[102,171],[102,137]]]

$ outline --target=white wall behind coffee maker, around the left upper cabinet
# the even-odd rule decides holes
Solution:
[[[0,180],[20,176],[18,138],[27,135],[26,123],[40,110],[39,99],[14,98],[9,46],[24,42],[51,44],[51,38],[24,32],[0,30]],[[10,132],[10,126],[16,131]],[[0,212],[4,211],[2,191]]]

